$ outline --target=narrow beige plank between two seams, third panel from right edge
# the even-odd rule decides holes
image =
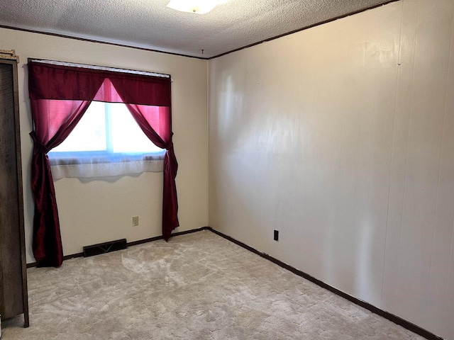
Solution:
[[[397,308],[397,278],[399,277],[399,256],[402,233],[402,209],[406,157],[409,140],[411,111],[411,90],[413,88],[414,53],[419,1],[401,1],[402,28],[400,31],[399,67],[397,68],[397,93],[394,115],[391,177],[387,213],[387,237],[384,257],[382,308]]]

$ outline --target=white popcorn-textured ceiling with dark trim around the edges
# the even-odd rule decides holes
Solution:
[[[0,26],[209,58],[390,0],[228,0],[203,15],[168,2],[0,0]]]

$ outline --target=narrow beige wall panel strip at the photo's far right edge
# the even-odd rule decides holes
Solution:
[[[438,174],[438,193],[436,200],[435,228],[432,238],[431,273],[428,286],[427,324],[443,329],[446,339],[454,339],[451,327],[454,315],[454,281],[449,281],[450,262],[454,263],[454,4],[441,7],[450,13],[450,57],[445,91],[445,110],[443,132],[441,135],[441,160]],[[445,41],[447,43],[447,41]],[[450,254],[446,256],[446,254]],[[447,298],[448,297],[448,298]]]

